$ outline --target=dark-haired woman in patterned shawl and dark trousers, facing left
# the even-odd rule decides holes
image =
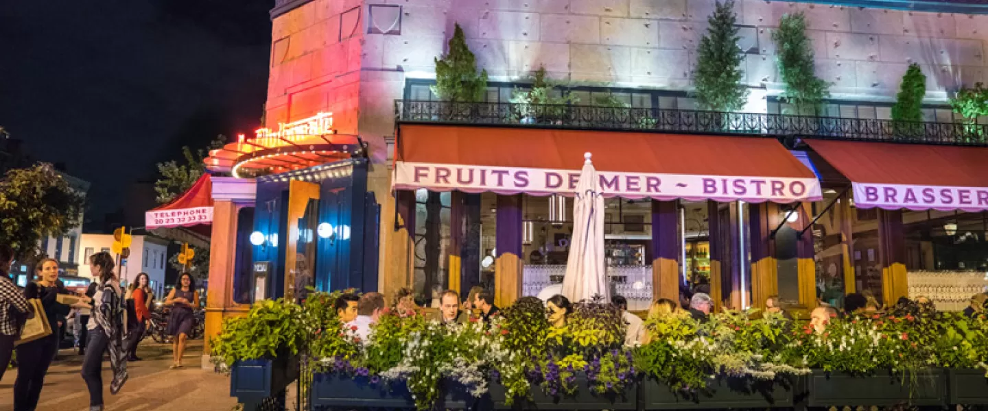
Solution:
[[[106,251],[89,257],[93,277],[100,282],[93,299],[93,312],[87,324],[89,341],[86,343],[86,357],[82,362],[82,378],[86,380],[86,388],[89,389],[90,411],[103,411],[102,371],[105,353],[110,353],[110,367],[114,375],[110,382],[110,393],[120,392],[128,377],[124,349],[126,308],[114,265],[114,257]]]

